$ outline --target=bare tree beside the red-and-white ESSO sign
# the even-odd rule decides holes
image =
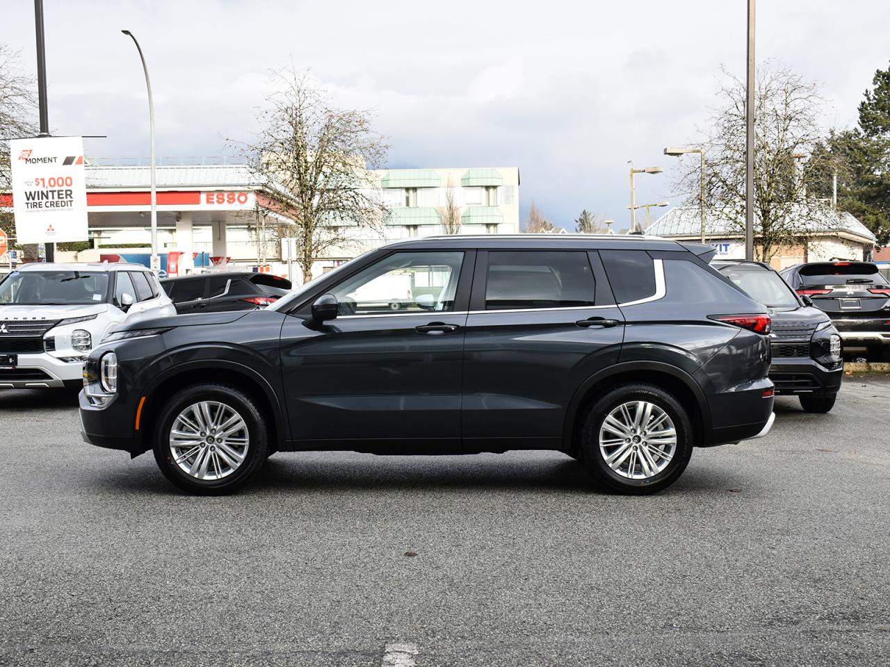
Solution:
[[[378,227],[388,213],[370,170],[388,146],[367,110],[334,108],[308,74],[287,68],[275,73],[277,92],[257,120],[251,143],[239,143],[269,201],[264,207],[294,221],[303,281],[312,264],[331,249],[352,244],[348,229]],[[272,225],[269,237],[285,229]],[[276,233],[277,232],[277,233]]]

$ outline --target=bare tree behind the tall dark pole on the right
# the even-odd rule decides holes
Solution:
[[[710,117],[704,142],[708,157],[708,219],[724,221],[730,233],[745,231],[745,82],[722,68],[726,83],[717,93],[721,105]],[[755,249],[769,261],[781,245],[800,245],[814,218],[827,205],[808,195],[804,161],[821,139],[822,98],[816,84],[789,68],[767,61],[755,85],[754,207]],[[678,179],[689,193],[700,183],[698,165],[690,163]],[[687,205],[698,207],[698,194]]]

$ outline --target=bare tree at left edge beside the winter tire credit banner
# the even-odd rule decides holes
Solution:
[[[34,136],[36,107],[34,81],[21,73],[19,53],[0,44],[0,139]],[[0,141],[0,192],[11,188],[9,142]],[[14,236],[12,213],[0,211],[0,229]]]

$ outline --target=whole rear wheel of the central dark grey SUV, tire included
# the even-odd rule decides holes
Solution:
[[[655,385],[616,387],[597,398],[579,452],[594,477],[625,494],[673,484],[692,456],[692,422],[684,406]]]

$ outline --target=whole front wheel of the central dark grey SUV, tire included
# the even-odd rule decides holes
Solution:
[[[255,475],[267,452],[263,413],[234,387],[187,387],[161,409],[155,460],[166,478],[185,491],[231,493]]]

